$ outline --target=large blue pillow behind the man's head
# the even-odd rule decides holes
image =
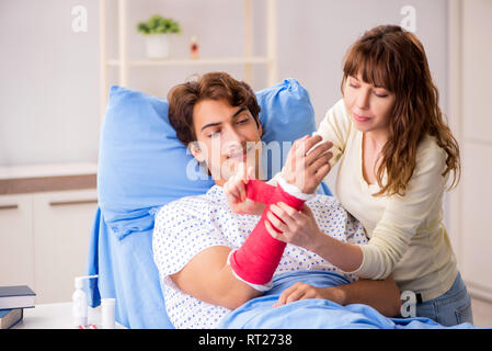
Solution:
[[[266,145],[276,141],[282,147],[283,141],[291,143],[316,131],[309,94],[297,80],[286,79],[256,92],[256,98]],[[281,149],[282,159],[290,143]],[[264,162],[272,159],[265,152]],[[111,87],[101,132],[98,195],[104,220],[119,239],[152,228],[153,214],[162,205],[203,194],[214,184],[209,177],[186,177],[190,165],[198,170],[193,162],[169,123],[165,100]],[[277,171],[270,167],[267,178]]]

